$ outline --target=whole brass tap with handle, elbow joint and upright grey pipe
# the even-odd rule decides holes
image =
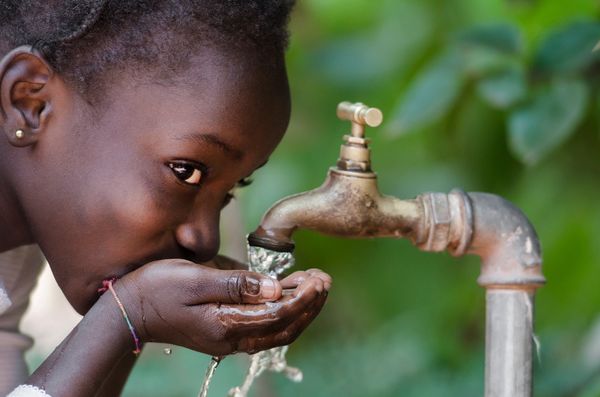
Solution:
[[[371,168],[365,127],[381,111],[342,102],[337,115],[352,123],[336,166],[323,185],[275,203],[248,236],[251,246],[292,252],[293,233],[408,238],[424,251],[481,257],[478,282],[486,288],[486,397],[532,393],[533,298],[545,283],[538,237],[525,215],[488,193],[425,193],[412,200],[385,196]]]

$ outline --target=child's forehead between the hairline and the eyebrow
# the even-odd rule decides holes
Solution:
[[[279,141],[290,113],[282,60],[264,63],[252,54],[205,50],[186,66],[162,79],[122,73],[108,89],[104,123],[210,132],[248,149],[260,145],[265,134]]]

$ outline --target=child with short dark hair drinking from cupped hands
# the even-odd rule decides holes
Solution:
[[[84,314],[33,375],[6,381],[28,385],[13,396],[116,396],[143,342],[256,352],[319,313],[325,273],[278,282],[217,256],[230,191],[289,121],[291,3],[2,1],[0,308],[38,244]]]

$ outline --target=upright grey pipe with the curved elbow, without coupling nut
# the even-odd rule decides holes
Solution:
[[[469,193],[473,241],[486,288],[486,397],[530,397],[534,295],[545,283],[539,239],[523,212],[501,197]]]

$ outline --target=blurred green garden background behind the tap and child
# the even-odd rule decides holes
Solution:
[[[454,187],[502,195],[536,226],[535,395],[600,396],[600,3],[591,0],[300,0],[288,54],[289,132],[239,202],[252,231],[277,199],[320,185],[349,125],[342,100],[377,106],[369,129],[382,192]],[[254,396],[481,396],[484,291],[477,258],[404,240],[296,235],[298,268],[334,288],[292,346],[293,384],[264,376]],[[129,396],[194,396],[208,357],[145,352]],[[226,359],[210,396],[238,385]]]

